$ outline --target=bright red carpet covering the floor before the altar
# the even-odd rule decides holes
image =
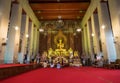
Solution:
[[[120,83],[120,70],[102,68],[41,68],[0,83]]]

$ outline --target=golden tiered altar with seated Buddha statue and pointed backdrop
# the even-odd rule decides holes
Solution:
[[[62,65],[81,65],[79,53],[77,50],[74,50],[70,47],[66,49],[65,45],[67,44],[67,38],[60,30],[58,34],[54,37],[54,45],[55,49],[49,48],[47,51],[44,51],[42,56],[43,58],[48,59],[49,61],[52,60],[54,64],[58,62]]]

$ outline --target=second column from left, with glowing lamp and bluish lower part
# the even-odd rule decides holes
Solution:
[[[22,8],[19,4],[13,4],[5,53],[5,63],[13,63],[18,60],[21,15]]]

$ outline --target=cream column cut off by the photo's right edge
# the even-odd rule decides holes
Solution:
[[[120,59],[120,0],[108,0],[117,58]]]

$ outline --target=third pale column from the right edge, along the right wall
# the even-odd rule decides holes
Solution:
[[[93,42],[94,42],[94,51],[95,54],[100,53],[100,44],[99,44],[99,22],[98,22],[98,15],[93,14],[91,16],[91,24],[92,24],[92,33],[94,34]]]

